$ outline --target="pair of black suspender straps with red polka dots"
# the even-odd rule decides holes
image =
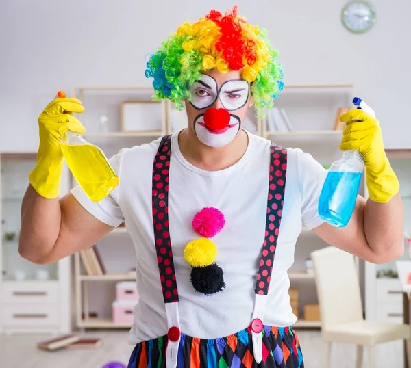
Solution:
[[[256,294],[267,295],[277,248],[286,185],[287,150],[271,144],[266,230],[256,282]],[[177,302],[173,250],[169,231],[169,168],[171,135],[160,142],[153,163],[153,226],[158,270],[165,303]]]

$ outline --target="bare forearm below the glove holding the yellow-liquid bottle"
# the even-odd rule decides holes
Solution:
[[[46,199],[29,185],[21,205],[21,233],[18,252],[29,261],[41,263],[51,252],[60,233],[58,198]]]

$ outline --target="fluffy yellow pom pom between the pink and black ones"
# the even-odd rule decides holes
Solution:
[[[217,247],[206,237],[190,241],[184,248],[184,259],[192,267],[206,267],[216,259]]]

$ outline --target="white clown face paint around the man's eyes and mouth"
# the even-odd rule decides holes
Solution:
[[[216,80],[203,74],[190,88],[190,103],[197,110],[206,110],[216,103],[217,98],[227,111],[236,111],[245,106],[249,97],[249,83],[243,79],[226,81],[219,88]],[[214,126],[214,125],[213,125]],[[240,118],[230,114],[228,125],[221,129],[212,129],[204,121],[204,114],[199,114],[194,121],[194,130],[203,144],[210,147],[223,147],[232,142],[241,126]]]

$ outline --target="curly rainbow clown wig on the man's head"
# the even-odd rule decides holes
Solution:
[[[195,23],[182,23],[151,55],[145,75],[153,77],[155,100],[168,98],[182,109],[201,73],[214,68],[221,73],[241,70],[242,78],[251,83],[257,114],[264,116],[264,108],[273,105],[284,86],[277,57],[266,31],[247,23],[234,7],[225,16],[212,10]]]

